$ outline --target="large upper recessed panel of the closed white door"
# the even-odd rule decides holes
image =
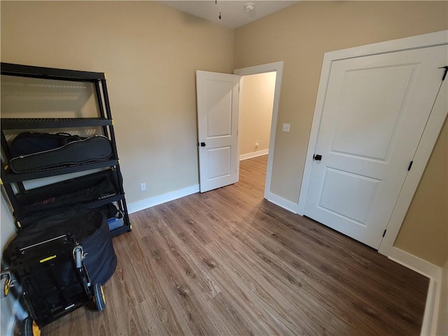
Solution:
[[[386,160],[414,67],[377,67],[344,73],[338,113],[344,118],[337,120],[332,151]]]

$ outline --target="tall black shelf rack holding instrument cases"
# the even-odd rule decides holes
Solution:
[[[102,200],[94,200],[74,207],[95,208],[111,202],[116,202],[118,208],[123,213],[124,225],[111,231],[113,236],[121,235],[129,232],[132,228],[127,212],[125,200],[125,191],[123,190],[123,178],[120,172],[120,160],[116,148],[115,133],[113,130],[113,119],[111,116],[111,108],[109,105],[109,96],[106,87],[106,76],[100,72],[76,71],[67,69],[52,69],[41,66],[28,66],[21,64],[1,63],[1,75],[41,78],[50,80],[64,80],[69,82],[92,83],[94,87],[94,95],[97,101],[98,118],[1,118],[1,184],[8,195],[11,206],[15,214],[16,225],[18,230],[32,218],[22,218],[20,205],[17,201],[17,193],[26,190],[24,182],[34,179],[42,179],[51,176],[60,176],[74,172],[87,172],[94,169],[110,169],[116,174],[119,192],[111,197]],[[51,89],[51,87],[50,87]],[[113,156],[109,160],[94,162],[84,165],[69,165],[64,167],[56,167],[52,169],[44,169],[36,172],[16,174],[8,168],[8,162],[11,160],[10,145],[6,140],[4,131],[20,131],[20,130],[45,130],[45,129],[77,129],[80,127],[100,127],[103,135],[111,141]],[[20,217],[20,218],[18,218]]]

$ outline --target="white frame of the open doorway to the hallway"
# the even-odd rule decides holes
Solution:
[[[275,78],[275,89],[274,89],[274,104],[272,106],[272,120],[271,120],[271,133],[269,135],[269,151],[267,153],[267,171],[266,171],[266,181],[265,181],[265,194],[266,200],[272,200],[276,198],[276,195],[270,192],[271,190],[271,179],[272,179],[272,165],[274,162],[274,148],[275,148],[275,137],[276,137],[276,127],[277,118],[279,116],[279,103],[280,103],[280,91],[281,91],[281,81],[283,78],[283,61],[273,62],[268,64],[261,64],[255,66],[248,66],[246,68],[235,69],[233,73],[239,76],[255,75],[258,73],[266,73],[276,71]],[[241,87],[241,79],[240,79]],[[238,170],[239,174],[239,170]]]

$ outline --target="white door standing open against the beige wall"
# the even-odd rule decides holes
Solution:
[[[196,71],[200,192],[238,181],[239,76]]]

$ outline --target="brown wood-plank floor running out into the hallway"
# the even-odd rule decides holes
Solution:
[[[106,309],[44,335],[419,335],[428,279],[263,200],[265,170],[132,214]]]

